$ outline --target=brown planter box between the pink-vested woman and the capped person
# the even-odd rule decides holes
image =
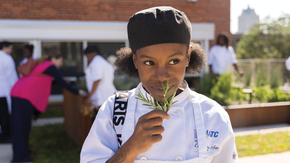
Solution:
[[[84,101],[85,97],[63,89],[64,129],[79,147],[82,147],[92,127],[92,118],[80,112]]]

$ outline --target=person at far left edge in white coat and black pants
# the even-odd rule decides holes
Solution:
[[[9,42],[2,42],[0,49],[0,143],[8,143],[11,141],[11,97],[9,94],[18,76],[11,56],[13,45]]]

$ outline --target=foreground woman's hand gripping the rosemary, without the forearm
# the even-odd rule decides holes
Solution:
[[[160,135],[164,132],[162,123],[164,119],[169,118],[166,112],[159,110],[152,110],[139,118],[133,135],[128,139],[137,154],[148,151],[154,143],[162,140]]]

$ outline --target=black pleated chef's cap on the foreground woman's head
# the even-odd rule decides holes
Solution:
[[[142,10],[134,14],[127,25],[132,53],[161,43],[189,45],[191,24],[186,15],[172,7],[162,6]]]

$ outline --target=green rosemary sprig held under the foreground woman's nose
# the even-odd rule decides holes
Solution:
[[[165,111],[166,113],[168,113],[168,111],[169,111],[170,107],[172,106],[172,104],[177,102],[177,101],[173,102],[173,98],[175,97],[176,91],[171,96],[169,96],[169,91],[171,91],[172,88],[175,87],[175,85],[170,88],[169,86],[170,86],[171,83],[170,84],[168,84],[168,83],[169,83],[169,80],[167,80],[166,88],[164,88],[164,85],[162,83],[163,100],[160,97],[155,95],[157,98],[159,98],[160,104],[154,98],[153,98],[153,101],[152,101],[151,94],[150,94],[150,100],[147,97],[147,93],[145,93],[145,95],[146,95],[146,98],[145,98],[144,95],[142,94],[142,92],[140,91],[140,89],[139,89],[139,93],[135,94],[139,98],[137,98],[137,97],[135,97],[135,98],[140,100],[140,101],[142,101],[142,102],[144,102],[144,103],[147,103],[147,104],[143,104],[145,106],[150,106],[147,109],[160,110],[160,111]],[[170,115],[172,115],[172,114],[170,114]]]

